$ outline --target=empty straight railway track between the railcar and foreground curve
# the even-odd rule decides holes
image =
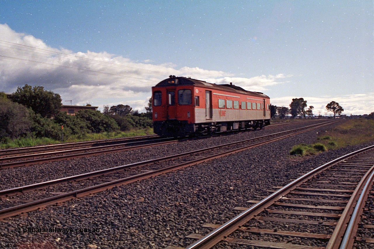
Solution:
[[[273,133],[257,138],[245,139],[229,144],[217,145],[214,147],[190,151],[174,156],[132,163],[129,165],[114,167],[111,169],[98,170],[95,172],[89,172],[38,184],[12,188],[9,190],[2,190],[0,191],[0,196],[2,199],[1,206],[3,208],[6,208],[0,210],[0,219],[4,219],[14,215],[24,215],[26,212],[30,212],[31,210],[40,209],[45,206],[54,205],[56,203],[65,202],[78,197],[86,196],[88,194],[104,191],[117,185],[128,184],[131,182],[139,181],[141,179],[146,179],[152,176],[167,173],[172,170],[177,170],[183,167],[195,165],[197,163],[202,163],[218,157],[226,156],[228,154],[236,153],[237,151],[246,150],[248,148],[253,148],[262,144],[286,138],[288,136],[307,132],[309,130],[323,127],[334,122],[337,121],[328,121],[322,124],[313,124],[302,128]],[[86,180],[86,182],[83,183],[83,180]],[[58,188],[56,188],[55,186],[57,184],[67,182],[78,182],[79,187],[82,188],[83,186],[83,189],[72,191],[69,185]],[[43,189],[43,191],[39,191],[37,194],[34,194],[35,192],[29,192],[41,189]],[[19,193],[24,193],[22,199],[9,198],[10,196]],[[46,195],[49,197],[46,197]],[[32,201],[36,198],[39,198],[39,200]],[[19,202],[27,203],[13,206],[14,203],[19,204]]]

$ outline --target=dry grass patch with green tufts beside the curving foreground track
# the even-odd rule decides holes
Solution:
[[[334,128],[326,130],[315,144],[298,144],[292,147],[290,155],[312,156],[324,151],[374,141],[374,120],[344,120]]]

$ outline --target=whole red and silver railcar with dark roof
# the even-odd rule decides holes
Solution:
[[[153,127],[160,136],[212,134],[270,124],[270,98],[230,84],[171,76],[152,87]]]

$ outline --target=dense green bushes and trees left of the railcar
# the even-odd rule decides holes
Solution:
[[[151,110],[139,113],[129,105],[104,107],[103,113],[80,110],[75,116],[61,112],[61,107],[61,96],[42,86],[26,84],[18,87],[9,98],[0,92],[0,142],[20,137],[60,140],[61,135],[68,138],[152,127]]]

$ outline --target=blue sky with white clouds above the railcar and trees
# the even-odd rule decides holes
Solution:
[[[0,90],[144,111],[170,74],[374,111],[373,1],[1,1]],[[13,52],[12,52],[13,51]],[[15,51],[15,52],[14,52]],[[49,51],[49,52],[48,52]],[[65,102],[66,101],[66,102]]]

